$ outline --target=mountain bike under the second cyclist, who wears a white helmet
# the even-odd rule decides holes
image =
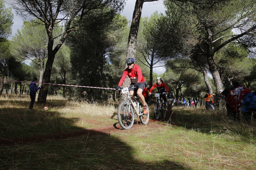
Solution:
[[[163,98],[160,100],[160,93],[152,94],[156,97],[156,103],[154,106],[154,117],[155,119],[159,118],[160,112],[162,114],[162,118],[165,118],[166,116],[166,105],[164,105]],[[165,92],[162,94],[165,95]]]

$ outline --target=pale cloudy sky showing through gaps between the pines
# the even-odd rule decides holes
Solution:
[[[133,10],[135,7],[135,2],[136,2],[136,0],[127,0],[124,9],[121,12],[121,15],[126,16],[126,18],[130,21],[132,20],[132,17],[133,17]],[[5,4],[5,5],[8,7],[7,4]],[[158,13],[164,13],[165,7],[163,5],[163,1],[160,0],[160,1],[156,1],[156,2],[145,2],[143,4],[141,16],[142,17],[150,16],[155,11],[158,11]],[[8,38],[9,40],[11,40],[12,36],[15,35],[15,33],[17,32],[17,29],[21,29],[21,26],[23,24],[22,18],[20,18],[20,16],[16,15],[14,10],[13,10],[13,14],[14,14],[13,27],[12,27],[13,31],[12,31],[12,35]],[[164,73],[165,68],[157,67],[157,68],[154,68],[153,71],[155,73],[162,74],[162,73]]]

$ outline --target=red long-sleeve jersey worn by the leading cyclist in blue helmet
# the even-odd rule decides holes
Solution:
[[[135,84],[137,82],[141,83],[145,81],[141,72],[141,67],[135,64],[132,69],[128,69],[128,67],[125,69],[125,71],[123,72],[123,76],[118,83],[118,86],[121,86],[123,84],[127,75],[131,79],[131,83]]]

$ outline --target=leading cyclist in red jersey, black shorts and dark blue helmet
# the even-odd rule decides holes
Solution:
[[[129,90],[129,93],[131,95],[134,95],[135,92],[137,91],[137,95],[139,96],[141,102],[143,103],[143,114],[147,114],[148,107],[146,106],[145,98],[142,95],[143,89],[146,86],[146,82],[142,75],[141,67],[139,65],[134,64],[134,61],[135,60],[133,58],[126,59],[125,62],[128,67],[123,72],[123,76],[120,79],[118,86],[115,88],[115,90],[120,90],[120,86],[123,84],[126,76],[128,76],[131,79],[131,85],[134,84],[134,87],[136,87],[135,89],[131,88]],[[131,99],[133,99],[133,97],[131,97]]]

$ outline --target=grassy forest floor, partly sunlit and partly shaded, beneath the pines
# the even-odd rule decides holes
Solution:
[[[166,119],[121,129],[117,105],[48,96],[0,97],[0,169],[256,169],[256,123],[173,107]],[[43,107],[47,106],[48,111]]]

